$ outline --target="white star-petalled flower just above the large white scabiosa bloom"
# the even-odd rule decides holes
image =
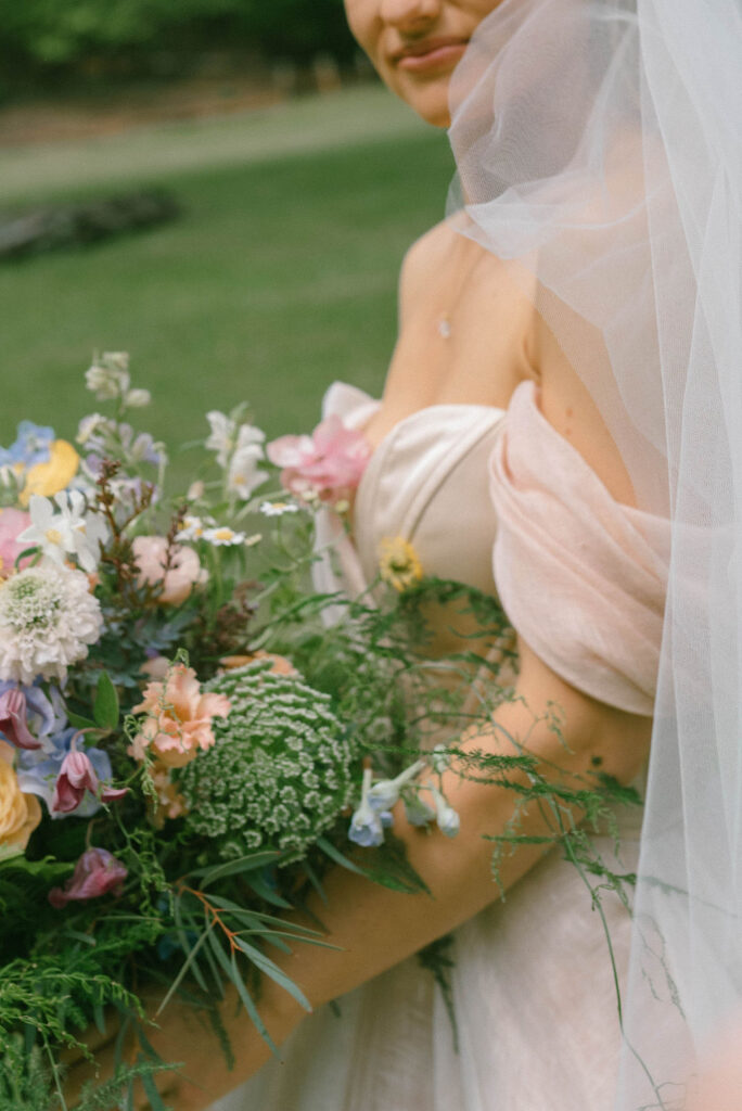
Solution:
[[[79,490],[62,490],[54,494],[54,501],[57,513],[49,498],[31,494],[31,524],[20,533],[19,541],[40,548],[57,563],[63,563],[66,556],[76,556],[83,571],[94,571],[100,562],[100,546],[108,537],[106,522],[100,514],[88,512]]]

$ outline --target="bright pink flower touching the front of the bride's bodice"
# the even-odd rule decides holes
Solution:
[[[268,458],[282,467],[281,483],[298,498],[307,494],[334,503],[361,480],[371,446],[362,432],[345,428],[335,414],[311,436],[282,436],[267,447]]]

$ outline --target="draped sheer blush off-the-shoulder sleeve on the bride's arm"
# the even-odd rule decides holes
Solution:
[[[494,579],[513,627],[573,687],[651,714],[669,521],[614,501],[545,420],[531,382],[513,394],[490,478]]]

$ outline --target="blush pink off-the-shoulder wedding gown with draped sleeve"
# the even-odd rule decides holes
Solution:
[[[377,407],[335,383],[324,412],[363,427]],[[527,642],[569,682],[651,712],[665,524],[612,500],[545,422],[531,383],[507,413],[439,404],[401,421],[359,487],[355,544],[329,512],[318,532],[334,551],[321,589],[359,592],[375,574],[379,541],[402,536],[427,573],[499,589]],[[620,859],[609,838],[596,841],[608,863],[631,872],[641,813],[618,818]],[[603,909],[623,980],[629,915],[612,895]],[[281,1061],[212,1111],[610,1111],[613,972],[571,863],[552,852],[455,931],[452,955],[458,1053],[431,973],[410,958],[339,1000],[339,1017],[323,1008],[304,1020]]]

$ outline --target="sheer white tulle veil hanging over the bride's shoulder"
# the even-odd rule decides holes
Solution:
[[[742,1032],[741,59],[741,0],[504,0],[452,84],[451,218],[672,519],[620,1111]]]

